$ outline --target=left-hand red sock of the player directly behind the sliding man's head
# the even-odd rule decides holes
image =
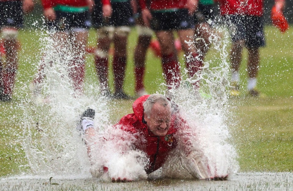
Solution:
[[[162,64],[168,89],[172,89],[172,86],[178,88],[180,85],[181,75],[177,58],[174,56],[174,54],[163,54]]]

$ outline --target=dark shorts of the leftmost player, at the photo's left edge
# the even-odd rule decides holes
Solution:
[[[0,1],[0,27],[23,26],[22,1]]]

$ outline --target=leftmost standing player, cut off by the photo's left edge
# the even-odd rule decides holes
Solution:
[[[0,58],[1,101],[12,99],[20,49],[18,29],[23,26],[23,14],[30,13],[33,9],[33,0],[0,0],[0,41],[5,57]]]

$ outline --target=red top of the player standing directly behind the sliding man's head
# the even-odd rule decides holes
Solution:
[[[141,9],[146,9],[149,0],[139,0],[139,5]],[[187,0],[150,0],[151,10],[161,10],[161,9],[183,9],[186,7]]]

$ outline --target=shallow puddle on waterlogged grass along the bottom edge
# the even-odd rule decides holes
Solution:
[[[129,183],[109,183],[90,179],[14,177],[0,180],[1,190],[293,190],[293,173],[239,173],[226,181],[156,179]]]

